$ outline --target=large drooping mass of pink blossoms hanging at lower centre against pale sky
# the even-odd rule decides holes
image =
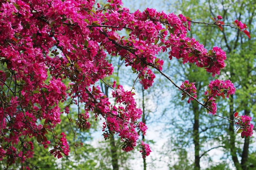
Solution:
[[[139,138],[136,128],[143,134],[146,134],[146,125],[143,123],[136,124],[135,122],[141,118],[141,109],[136,107],[135,99],[133,98],[135,93],[131,91],[125,91],[123,86],[118,85],[116,90],[112,92],[112,96],[116,98],[118,107],[112,106],[112,114],[106,118],[106,124],[108,124],[108,130],[106,124],[103,124],[103,130],[105,136],[108,137],[110,132],[118,132],[121,140],[124,141],[122,149],[130,151],[136,146],[137,139]],[[122,124],[122,126],[120,126]]]

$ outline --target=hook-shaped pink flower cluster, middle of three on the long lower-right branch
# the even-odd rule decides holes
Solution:
[[[204,99],[206,106],[209,106],[211,110],[210,113],[215,115],[217,113],[216,99],[221,96],[223,99],[229,97],[229,95],[235,94],[236,88],[230,80],[219,80],[216,79],[211,81],[209,84],[209,90],[207,90],[204,95],[207,99]]]

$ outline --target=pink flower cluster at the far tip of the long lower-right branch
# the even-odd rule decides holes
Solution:
[[[239,116],[237,112],[234,114],[234,117],[238,120],[238,122],[235,123],[237,125],[236,127],[239,128],[237,133],[241,133],[242,138],[252,137],[254,128],[254,125],[251,124],[252,117],[247,115]]]

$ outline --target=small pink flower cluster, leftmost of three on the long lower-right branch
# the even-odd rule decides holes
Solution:
[[[180,86],[180,88],[182,88],[184,91],[189,93],[194,98],[197,97],[195,83],[193,82],[189,83],[189,80],[185,80],[185,82],[182,82],[182,85]],[[186,96],[187,94],[182,92],[182,100],[184,100]],[[193,98],[189,97],[188,103],[190,103],[191,100],[193,100]]]

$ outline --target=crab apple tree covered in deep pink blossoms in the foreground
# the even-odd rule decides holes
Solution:
[[[213,24],[220,27],[224,24],[221,19],[218,16]],[[56,134],[54,127],[61,124],[61,114],[68,114],[69,107],[79,103],[85,108],[77,114],[77,128],[90,128],[88,118],[92,113],[104,120],[106,139],[117,134],[123,141],[123,150],[133,150],[139,134],[145,134],[147,127],[140,122],[141,109],[137,108],[132,90],[126,91],[115,82],[108,84],[113,89],[114,105],[96,85],[114,71],[107,55],[120,56],[137,74],[144,89],[154,82],[153,70],[168,78],[162,72],[163,60],[157,58],[160,52],[168,53],[170,60],[176,57],[183,64],[190,62],[205,68],[212,76],[220,74],[225,67],[225,52],[219,47],[208,51],[189,38],[186,33],[190,24],[191,20],[181,14],[155,9],[131,13],[122,7],[121,0],[108,0],[104,6],[94,0],[2,0],[0,160],[6,160],[9,166],[33,157],[34,146],[29,138],[36,138],[44,148],[52,148],[49,152],[54,157],[68,155],[65,132]],[[236,20],[233,27],[249,35],[242,22]],[[121,30],[128,31],[128,35]],[[193,83],[185,81],[177,88],[182,91],[182,99],[198,101]],[[234,91],[229,80],[213,81],[203,105],[216,114],[215,99],[229,97]],[[66,106],[64,111],[61,103]],[[239,132],[245,131],[242,136],[251,136],[251,119],[238,115],[236,119]],[[144,142],[141,149],[142,157],[151,152]]]

